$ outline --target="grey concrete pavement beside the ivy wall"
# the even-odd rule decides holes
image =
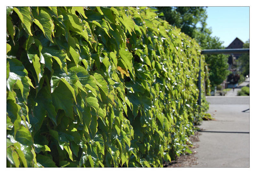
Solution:
[[[215,120],[199,126],[203,131],[195,149],[198,164],[191,167],[249,167],[249,96],[206,100]]]

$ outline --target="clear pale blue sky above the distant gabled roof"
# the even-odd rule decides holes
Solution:
[[[207,7],[207,28],[227,47],[236,37],[249,39],[249,7]]]

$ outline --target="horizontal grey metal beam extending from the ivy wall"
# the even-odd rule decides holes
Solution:
[[[201,54],[240,54],[240,53],[250,53],[250,48],[241,49],[204,49]]]

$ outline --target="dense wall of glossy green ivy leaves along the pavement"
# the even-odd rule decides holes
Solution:
[[[147,7],[6,13],[7,167],[159,167],[190,152],[208,107],[194,39]]]

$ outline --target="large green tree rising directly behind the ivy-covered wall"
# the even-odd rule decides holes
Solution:
[[[181,31],[194,38],[202,49],[223,49],[218,37],[211,36],[212,31],[206,27],[205,7],[156,7],[159,12],[163,12],[169,24],[181,28]],[[209,67],[209,79],[214,88],[225,80],[230,74],[228,71],[228,55],[214,54],[204,55]]]

